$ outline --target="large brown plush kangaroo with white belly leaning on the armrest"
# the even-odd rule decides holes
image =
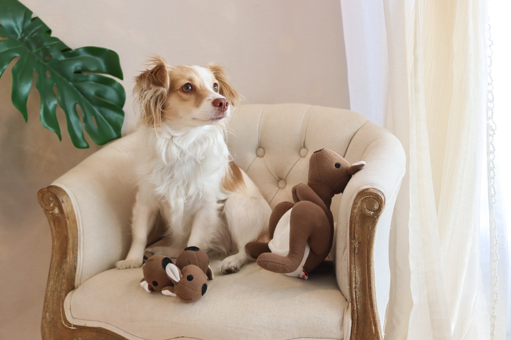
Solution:
[[[307,279],[332,248],[332,197],[342,193],[364,165],[358,162],[350,166],[329,149],[315,151],[309,161],[307,184],[292,189],[294,203],[278,203],[271,213],[270,242],[250,242],[245,246],[247,253],[266,270]]]

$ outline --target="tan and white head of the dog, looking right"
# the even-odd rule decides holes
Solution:
[[[141,122],[154,127],[218,124],[240,97],[220,65],[170,66],[160,57],[135,78],[133,95],[140,104]]]

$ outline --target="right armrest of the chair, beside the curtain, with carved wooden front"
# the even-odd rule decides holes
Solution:
[[[352,177],[341,197],[337,282],[351,305],[351,339],[383,339],[390,289],[390,221],[405,173],[405,153],[396,137],[367,122],[353,137],[345,158],[350,163],[365,161],[366,166]]]

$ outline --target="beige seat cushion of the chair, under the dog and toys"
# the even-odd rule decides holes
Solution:
[[[249,263],[235,274],[216,271],[206,294],[192,303],[147,293],[142,277],[137,268],[87,279],[66,296],[67,320],[129,339],[342,339],[349,313],[334,273],[302,280]]]

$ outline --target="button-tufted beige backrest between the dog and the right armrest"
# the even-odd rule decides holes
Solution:
[[[307,104],[243,105],[229,121],[227,144],[238,166],[259,187],[271,208],[292,201],[291,189],[307,182],[311,154],[332,149],[351,163],[346,150],[368,120],[342,109]],[[341,195],[332,202],[337,220]]]

